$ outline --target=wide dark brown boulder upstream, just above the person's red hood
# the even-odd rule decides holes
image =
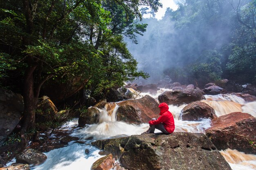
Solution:
[[[201,91],[196,89],[184,89],[184,90],[174,90],[166,91],[158,96],[159,102],[181,105],[183,103],[189,104],[190,102],[202,100],[203,94]]]

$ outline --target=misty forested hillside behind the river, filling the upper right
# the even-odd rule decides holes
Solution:
[[[178,2],[162,20],[144,20],[148,27],[139,46],[128,43],[139,68],[150,74],[146,83],[158,82],[162,73],[200,87],[221,78],[256,83],[256,1]]]

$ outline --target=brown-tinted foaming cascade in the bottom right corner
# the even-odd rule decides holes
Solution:
[[[256,155],[231,149],[221,150],[220,153],[233,170],[256,170]]]

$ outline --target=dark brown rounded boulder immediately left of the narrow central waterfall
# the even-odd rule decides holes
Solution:
[[[84,127],[85,124],[96,124],[99,121],[100,111],[96,107],[90,107],[82,112],[78,119],[78,127]]]

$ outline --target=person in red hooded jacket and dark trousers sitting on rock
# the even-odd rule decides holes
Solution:
[[[160,117],[158,119],[153,118],[148,122],[149,129],[146,131],[146,133],[154,133],[156,128],[165,134],[170,134],[175,129],[173,115],[168,111],[168,104],[161,103],[158,107],[160,108]]]

